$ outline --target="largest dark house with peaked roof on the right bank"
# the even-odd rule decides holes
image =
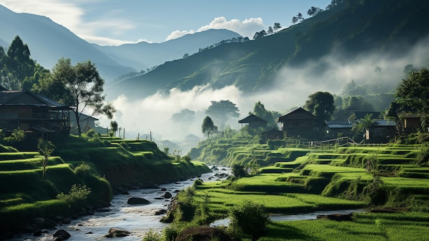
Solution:
[[[315,115],[304,110],[304,108],[295,108],[295,110],[278,117],[278,122],[282,123],[282,130],[285,137],[308,137],[315,138],[319,133],[316,125]]]

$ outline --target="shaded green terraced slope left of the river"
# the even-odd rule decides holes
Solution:
[[[38,152],[2,147],[0,152],[0,231],[19,227],[34,217],[69,216],[80,206],[109,203],[111,185],[163,183],[210,172],[201,162],[173,161],[153,142],[68,137],[56,144],[42,179]],[[79,171],[86,164],[89,169]],[[103,178],[101,178],[103,176]],[[56,199],[73,184],[91,194],[78,204]]]

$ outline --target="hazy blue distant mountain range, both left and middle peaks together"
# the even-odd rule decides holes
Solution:
[[[240,36],[229,30],[207,30],[164,43],[99,46],[84,41],[45,16],[12,12],[3,5],[0,5],[0,21],[8,23],[0,25],[0,46],[3,49],[7,49],[18,35],[28,45],[32,58],[43,67],[52,69],[63,57],[70,58],[73,64],[91,60],[106,82]]]

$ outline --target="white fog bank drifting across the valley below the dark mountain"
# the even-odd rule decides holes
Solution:
[[[113,120],[125,128],[125,138],[134,139],[138,134],[152,133],[154,139],[169,139],[180,142],[192,133],[203,138],[201,124],[206,117],[204,111],[210,101],[230,100],[239,108],[241,116],[230,120],[230,127],[238,129],[238,119],[253,111],[260,101],[269,111],[284,114],[291,108],[303,106],[308,95],[317,91],[328,91],[340,95],[345,84],[354,80],[356,85],[379,84],[385,93],[392,93],[397,84],[406,76],[404,67],[413,65],[415,69],[428,67],[429,49],[426,41],[416,45],[411,51],[394,54],[361,54],[353,60],[344,61],[344,56],[336,53],[317,61],[308,61],[299,67],[284,67],[279,71],[271,87],[256,93],[243,93],[237,87],[211,89],[197,86],[190,91],[171,89],[169,95],[156,93],[141,100],[129,100],[120,95],[113,100],[117,108]],[[397,56],[400,56],[397,57]],[[375,71],[376,67],[380,67]],[[171,120],[174,113],[188,108],[195,111],[195,121],[188,126],[180,126]],[[99,117],[102,126],[110,127],[110,120]],[[215,123],[219,126],[219,124]]]

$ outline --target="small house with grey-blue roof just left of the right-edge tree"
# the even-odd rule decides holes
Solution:
[[[370,143],[389,143],[397,133],[396,122],[386,119],[374,120],[373,127],[365,132],[365,139]]]

